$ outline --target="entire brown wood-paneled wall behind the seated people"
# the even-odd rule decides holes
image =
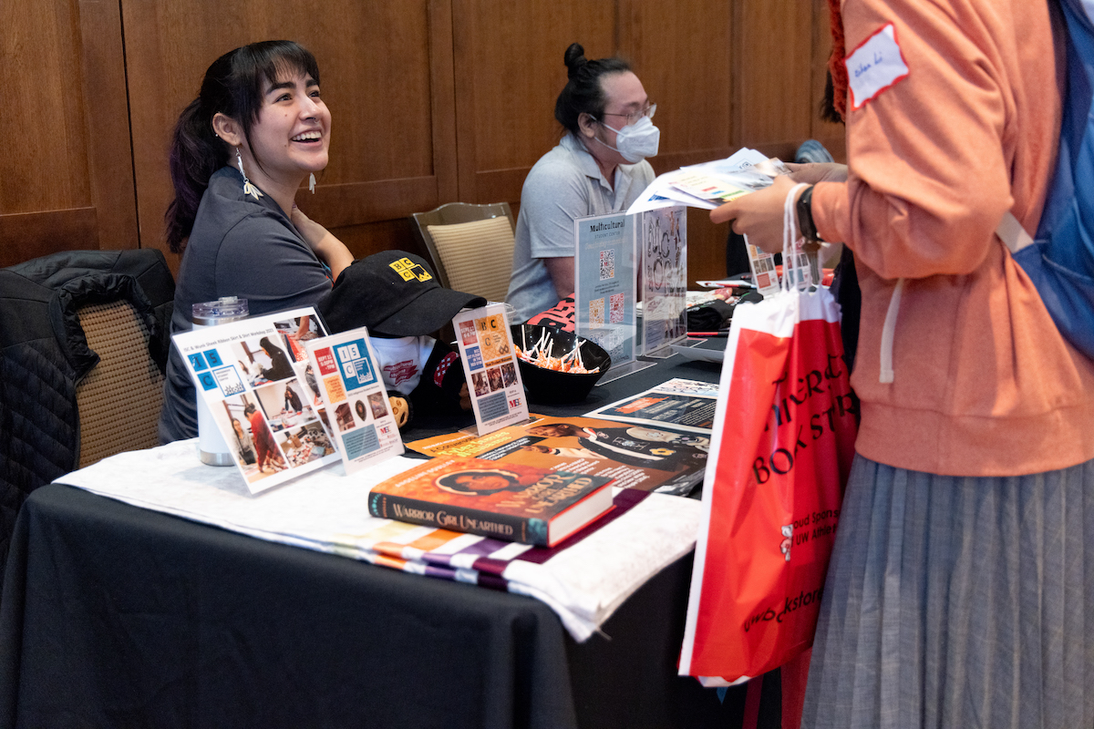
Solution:
[[[627,58],[657,102],[659,173],[745,145],[789,158],[810,137],[845,156],[842,127],[817,116],[826,0],[331,0],[322,12],[302,0],[9,0],[0,89],[20,103],[0,132],[20,144],[0,158],[0,264],[163,248],[179,110],[219,54],[270,37],[319,60],[331,163],[298,201],[359,256],[412,248],[411,212],[517,203],[558,141],[574,40],[590,58]],[[725,226],[699,210],[688,221],[691,278],[719,275]]]

